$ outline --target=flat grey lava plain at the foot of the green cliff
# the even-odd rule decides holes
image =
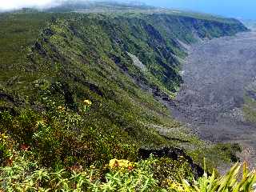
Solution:
[[[184,84],[174,104],[174,118],[213,142],[238,142],[242,158],[256,165],[256,126],[246,121],[246,87],[256,78],[256,33],[215,38],[190,47],[183,66]]]

